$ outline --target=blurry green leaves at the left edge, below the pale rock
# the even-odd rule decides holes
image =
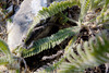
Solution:
[[[4,53],[0,57],[0,65],[5,65],[9,70],[14,70],[16,69],[17,71],[20,70],[17,64],[19,58],[14,57],[9,49],[9,46],[0,39],[0,53]],[[14,65],[15,64],[15,65]],[[19,72],[20,73],[20,72]]]

